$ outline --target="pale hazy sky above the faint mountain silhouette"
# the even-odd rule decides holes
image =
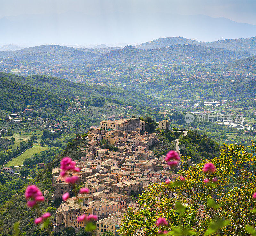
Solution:
[[[255,0],[0,0],[0,6],[0,17],[67,11],[88,15],[144,11],[204,14],[256,25]]]

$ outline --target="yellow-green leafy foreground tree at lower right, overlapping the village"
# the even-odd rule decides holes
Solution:
[[[164,217],[168,225],[160,229],[171,235],[191,235],[193,229],[199,235],[249,236],[248,227],[255,228],[256,143],[248,148],[250,153],[242,145],[224,144],[220,156],[209,160],[214,172],[202,171],[206,160],[188,167],[189,157],[183,157],[179,174],[185,181],[152,184],[140,195],[142,208],[128,208],[118,233],[156,236],[156,220]]]

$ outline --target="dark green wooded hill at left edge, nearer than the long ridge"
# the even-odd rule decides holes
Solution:
[[[51,92],[0,77],[0,110],[17,112],[27,105],[66,110],[70,104]]]

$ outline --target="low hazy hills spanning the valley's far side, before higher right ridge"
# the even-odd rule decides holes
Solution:
[[[166,48],[139,49],[124,48],[71,48],[59,45],[43,45],[17,51],[0,51],[0,57],[12,60],[44,63],[96,63],[96,64],[147,64],[158,62],[224,63],[252,54],[245,51],[231,51],[202,45],[172,45]]]

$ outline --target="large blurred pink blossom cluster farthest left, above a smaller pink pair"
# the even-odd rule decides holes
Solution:
[[[24,195],[26,200],[29,200],[27,201],[28,207],[31,208],[33,208],[37,204],[37,202],[44,201],[42,192],[36,185],[29,185],[26,188]]]

